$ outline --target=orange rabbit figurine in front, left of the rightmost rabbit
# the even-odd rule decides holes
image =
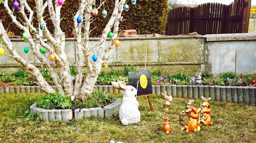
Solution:
[[[198,132],[200,131],[200,122],[198,122],[198,117],[202,108],[196,109],[195,107],[191,107],[191,110],[190,119],[187,126],[185,126],[185,129],[186,132]]]

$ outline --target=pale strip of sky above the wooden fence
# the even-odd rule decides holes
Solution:
[[[192,4],[192,0],[180,0],[181,4]],[[204,3],[221,3],[221,4],[225,4],[225,5],[229,5],[232,2],[234,2],[234,0],[194,0],[194,2],[196,4],[204,4]],[[251,5],[256,5],[256,0],[251,0]]]

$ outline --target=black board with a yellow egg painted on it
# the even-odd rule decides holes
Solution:
[[[129,72],[128,79],[129,84],[133,85],[135,88],[137,88],[137,83],[139,80],[137,96],[153,94],[149,70]]]

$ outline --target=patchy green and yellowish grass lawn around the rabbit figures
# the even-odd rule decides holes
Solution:
[[[122,126],[118,116],[70,122],[27,121],[24,111],[40,96],[0,95],[0,142],[256,142],[255,106],[211,101],[213,126],[201,126],[200,132],[186,133],[179,125],[179,112],[185,107],[183,99],[174,99],[170,110],[165,111],[163,98],[153,96],[155,111],[151,112],[147,98],[138,98],[141,122]],[[170,118],[170,135],[162,131],[162,117]]]

